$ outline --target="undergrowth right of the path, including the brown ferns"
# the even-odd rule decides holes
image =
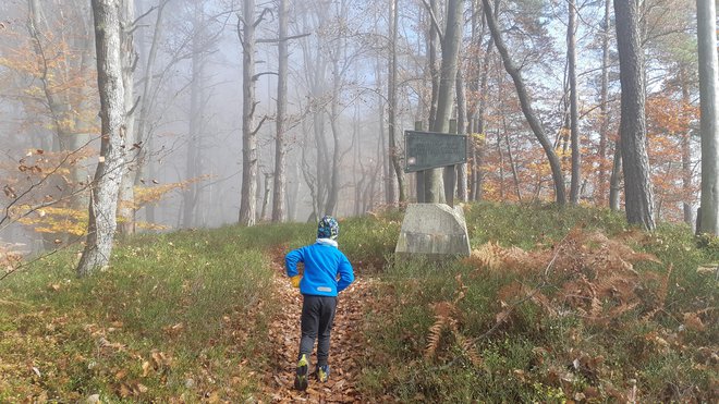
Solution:
[[[712,238],[677,224],[645,233],[585,208],[480,204],[465,215],[471,259],[386,267],[385,309],[366,325],[367,397],[719,399]]]

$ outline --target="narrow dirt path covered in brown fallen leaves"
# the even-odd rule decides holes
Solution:
[[[330,346],[330,380],[319,383],[310,377],[307,391],[300,392],[294,390],[293,382],[300,346],[302,295],[291,286],[280,264],[276,261],[273,269],[275,293],[280,296],[282,309],[270,323],[269,335],[275,366],[264,380],[266,393],[273,403],[361,402],[362,397],[355,389],[360,376],[357,358],[365,351],[362,325],[365,305],[371,297],[371,280],[357,277],[348,290],[340,293]],[[312,371],[316,364],[314,353],[310,364]]]

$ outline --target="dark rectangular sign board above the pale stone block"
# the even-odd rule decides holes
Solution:
[[[466,161],[466,135],[404,131],[404,172],[462,164]]]

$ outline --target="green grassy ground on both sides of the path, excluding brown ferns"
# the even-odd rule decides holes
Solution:
[[[463,274],[467,290],[455,317],[460,335],[472,341],[495,323],[498,290],[519,276],[478,272],[463,261],[394,262],[400,221],[391,213],[342,222],[342,249],[360,272],[374,268],[386,285],[368,306],[374,354],[365,358],[361,387],[368,399],[562,401],[592,399],[596,389],[595,400],[606,400],[612,389],[626,393],[631,379],[643,401],[712,397],[716,322],[703,331],[677,330],[682,314],[716,306],[716,280],[696,273],[697,265],[719,260],[716,244],[699,248],[685,228],[663,227],[634,246],[673,264],[666,313],[653,321],[637,321],[637,308],[611,328],[597,327],[571,313],[546,316],[526,302],[510,326],[477,341],[482,360],[473,363],[448,332],[437,354],[425,357],[431,304],[453,299],[454,277]],[[614,215],[587,209],[486,204],[467,210],[473,247],[491,241],[547,248],[577,224],[608,235],[626,228]],[[112,268],[87,280],[74,277],[75,257],[62,255],[11,277],[0,284],[0,402],[90,394],[237,402],[257,395],[257,372],[268,360],[266,322],[278,309],[269,256],[310,242],[313,228],[148,235],[118,247]],[[637,268],[661,272],[667,266]],[[570,371],[574,359],[594,362]]]

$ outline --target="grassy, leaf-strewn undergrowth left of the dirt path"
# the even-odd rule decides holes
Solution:
[[[14,273],[0,283],[0,402],[257,395],[278,309],[269,249],[306,233],[287,224],[142,235],[86,279],[73,253]]]

